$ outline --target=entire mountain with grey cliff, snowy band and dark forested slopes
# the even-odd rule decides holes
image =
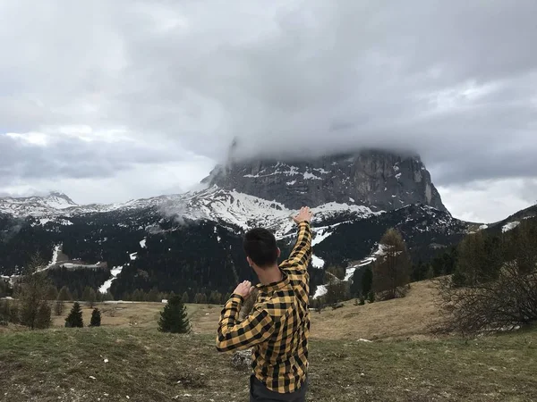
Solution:
[[[417,156],[371,151],[233,163],[205,181],[209,187],[200,191],[115,205],[76,205],[57,193],[0,199],[0,274],[21,273],[38,253],[57,286],[89,285],[116,297],[154,288],[226,293],[239,279],[255,280],[243,256],[243,232],[273,230],[285,252],[294,240],[290,216],[309,204],[316,214],[315,292],[328,265],[371,261],[390,227],[403,232],[416,260],[475,227],[447,212]]]

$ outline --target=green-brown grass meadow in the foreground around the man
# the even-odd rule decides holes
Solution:
[[[310,349],[315,402],[537,400],[535,329],[468,341],[312,339]],[[0,399],[247,401],[248,373],[229,360],[208,334],[7,331],[0,334]]]

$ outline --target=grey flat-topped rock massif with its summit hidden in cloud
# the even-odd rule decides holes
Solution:
[[[373,211],[413,204],[447,211],[419,156],[385,151],[306,161],[229,162],[217,166],[204,182],[293,209],[337,202],[365,205]]]

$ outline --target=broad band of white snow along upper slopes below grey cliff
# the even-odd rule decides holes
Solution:
[[[68,199],[68,197],[66,198]],[[124,204],[112,205],[71,205],[64,207],[68,205],[67,203],[57,204],[61,207],[53,207],[50,206],[54,205],[52,202],[44,206],[45,203],[42,201],[36,203],[29,202],[29,198],[10,198],[10,205],[20,205],[21,207],[7,208],[5,205],[8,203],[4,202],[5,199],[0,202],[0,212],[19,217],[29,215],[39,217],[39,220],[34,224],[46,224],[47,222],[68,224],[69,221],[65,219],[66,217],[80,214],[157,208],[164,216],[175,217],[178,221],[206,220],[221,222],[238,226],[244,230],[260,226],[269,230],[276,230],[277,238],[283,238],[286,234],[294,234],[292,216],[296,212],[287,209],[285,205],[276,201],[268,201],[234,190],[218,188],[217,186],[180,195],[132,200]],[[313,211],[316,222],[334,219],[340,214],[348,215],[348,219],[382,214],[382,212],[372,212],[370,208],[363,205],[347,205],[334,202],[320,205],[317,208],[313,208]],[[316,244],[322,239],[326,239],[328,235],[328,227],[321,227],[318,230]]]

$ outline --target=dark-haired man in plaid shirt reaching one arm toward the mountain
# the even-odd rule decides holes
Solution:
[[[251,402],[305,400],[312,215],[303,207],[294,217],[298,239],[289,259],[279,266],[280,250],[272,233],[253,229],[244,237],[246,260],[260,279],[259,294],[251,314],[238,322],[244,300],[254,288],[243,281],[234,289],[220,317],[217,349],[252,348]]]

